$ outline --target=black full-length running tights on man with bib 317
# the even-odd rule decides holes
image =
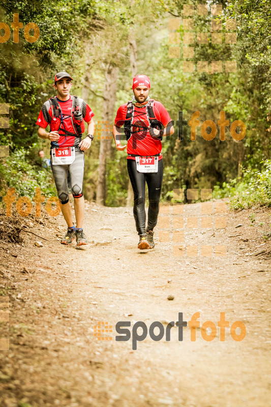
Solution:
[[[147,230],[154,230],[159,213],[159,201],[163,181],[163,159],[158,162],[158,172],[138,172],[135,160],[127,160],[128,174],[134,191],[134,217],[138,235],[145,234],[145,182],[148,187]]]

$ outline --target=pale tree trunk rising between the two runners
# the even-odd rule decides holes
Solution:
[[[105,71],[105,86],[104,86],[104,103],[103,103],[103,120],[111,123],[116,91],[117,91],[117,75],[118,68],[112,67],[108,64]],[[109,127],[109,126],[108,126]],[[110,129],[110,127],[109,127]],[[99,153],[99,168],[98,168],[98,185],[97,185],[97,196],[96,202],[100,205],[105,205],[106,199],[106,158],[110,154],[112,146],[112,132],[104,131],[101,133],[100,141],[100,153]],[[111,137],[111,138],[110,138]],[[107,138],[107,139],[106,139]]]

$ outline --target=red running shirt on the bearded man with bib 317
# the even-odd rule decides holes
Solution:
[[[171,122],[170,115],[168,111],[162,105],[162,103],[155,100],[154,102],[154,114],[157,120],[159,120],[164,127]],[[120,106],[116,113],[115,118],[115,125],[118,127],[122,127],[124,125],[124,121],[126,119],[127,114],[127,103]],[[136,107],[134,106],[134,118],[133,124],[136,122],[143,122],[144,126],[148,126],[147,114],[146,114],[146,106],[144,107]],[[131,131],[136,131],[136,127],[131,126]],[[162,150],[162,143],[159,139],[153,138],[150,136],[148,130],[141,130],[138,131],[129,138],[127,144],[127,153],[128,154],[135,154],[138,156],[154,156],[156,154],[161,153]],[[127,157],[128,159],[135,160],[135,157]],[[162,155],[159,156],[159,160],[163,157]]]

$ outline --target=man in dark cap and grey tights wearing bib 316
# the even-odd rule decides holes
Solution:
[[[62,213],[68,225],[68,231],[61,240],[62,244],[71,244],[76,238],[77,246],[86,245],[83,233],[84,197],[82,194],[84,175],[84,151],[91,147],[94,133],[94,113],[77,96],[71,96],[72,77],[67,72],[58,72],[54,77],[54,89],[57,96],[47,100],[40,111],[37,125],[38,135],[51,141],[50,160],[53,177]],[[87,123],[87,136],[82,140]],[[50,125],[49,133],[46,127]],[[70,173],[76,227],[72,221],[69,202],[68,173]]]

